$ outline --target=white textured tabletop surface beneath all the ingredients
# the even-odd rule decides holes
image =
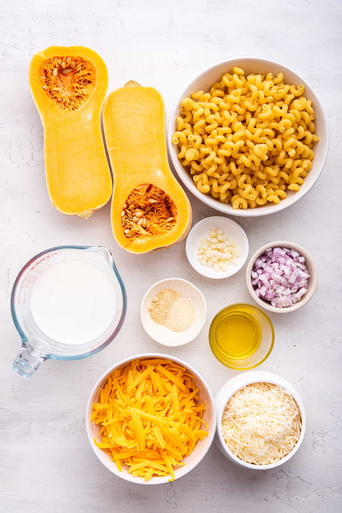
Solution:
[[[1,511],[340,511],[341,14],[339,0],[3,0]],[[319,271],[316,295],[305,308],[271,316],[275,345],[261,368],[296,384],[308,416],[303,446],[276,471],[240,469],[212,446],[185,478],[151,488],[116,479],[95,458],[84,429],[93,383],[115,361],[161,349],[140,325],[139,304],[147,288],[156,280],[177,276],[192,281],[206,295],[208,319],[202,334],[172,353],[196,367],[214,393],[235,372],[210,352],[210,321],[220,308],[250,297],[244,270],[218,282],[195,273],[186,259],[185,242],[147,256],[125,253],[112,237],[109,205],[88,221],[52,208],[44,177],[43,129],[27,69],[35,50],[56,44],[93,48],[107,64],[109,91],[130,78],[154,86],[164,95],[168,113],[194,76],[236,55],[283,62],[303,75],[321,99],[331,135],[327,164],[317,184],[303,200],[279,214],[238,219],[249,237],[250,254],[271,240],[294,241],[311,252]],[[72,148],[66,146],[66,152],[72,156]],[[215,214],[193,196],[190,201],[194,222]],[[11,287],[32,255],[62,244],[104,245],[112,251],[127,288],[126,321],[104,351],[77,362],[48,361],[25,382],[11,372],[20,346],[10,316]]]

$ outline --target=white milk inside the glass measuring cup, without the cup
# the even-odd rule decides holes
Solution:
[[[34,282],[30,309],[38,327],[57,342],[97,339],[116,311],[113,281],[96,264],[68,259],[51,264]]]

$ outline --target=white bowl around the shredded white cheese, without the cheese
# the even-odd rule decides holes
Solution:
[[[274,385],[278,385],[283,387],[287,392],[291,394],[291,396],[296,401],[301,415],[301,431],[299,435],[298,442],[294,446],[291,452],[281,460],[276,463],[271,463],[269,465],[253,465],[251,463],[246,463],[243,460],[240,460],[236,456],[233,455],[232,451],[227,447],[227,444],[222,435],[221,422],[223,411],[228,403],[229,399],[233,396],[235,392],[240,390],[240,388],[251,385],[252,383],[272,383]],[[283,465],[292,458],[297,450],[299,449],[301,443],[303,442],[305,429],[306,429],[306,417],[305,417],[305,408],[304,403],[299,396],[296,388],[285,378],[275,374],[274,372],[268,372],[266,370],[251,370],[249,372],[243,372],[242,374],[237,374],[234,378],[230,379],[225,383],[216,393],[215,396],[215,409],[216,409],[216,433],[215,433],[215,445],[222,452],[222,454],[230,461],[245,468],[251,468],[253,470],[267,470],[270,468],[278,467],[279,465]]]

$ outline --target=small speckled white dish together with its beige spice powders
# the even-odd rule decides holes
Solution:
[[[202,331],[207,318],[204,295],[192,283],[168,278],[144,295],[140,317],[146,333],[164,346],[188,344]]]

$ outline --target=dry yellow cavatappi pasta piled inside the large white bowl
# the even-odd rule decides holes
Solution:
[[[318,141],[303,93],[283,73],[245,77],[235,66],[210,92],[184,98],[172,142],[197,189],[234,209],[278,204],[287,190],[298,191]]]

